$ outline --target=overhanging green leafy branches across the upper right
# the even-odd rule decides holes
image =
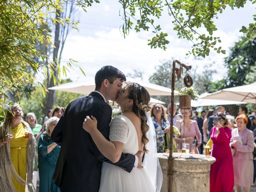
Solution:
[[[249,0],[253,4],[256,0]],[[123,8],[122,32],[124,37],[134,27],[136,32],[140,30],[151,30],[155,36],[148,40],[151,48],[160,47],[166,49],[169,41],[166,39],[168,34],[164,32],[155,20],[160,18],[164,11],[168,11],[173,30],[177,32],[178,38],[185,38],[193,42],[190,54],[195,56],[208,56],[210,49],[217,53],[225,50],[221,46],[216,46],[221,42],[219,37],[214,37],[213,33],[217,30],[214,25],[214,18],[218,18],[227,6],[243,8],[246,0],[119,0]],[[133,21],[135,20],[135,24]],[[254,15],[256,20],[256,15]],[[206,34],[198,32],[199,28],[205,28]],[[252,40],[256,35],[256,22],[250,23],[248,27],[242,26],[240,32],[246,34]]]

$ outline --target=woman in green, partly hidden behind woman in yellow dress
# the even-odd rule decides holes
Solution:
[[[36,115],[34,113],[28,113],[26,115],[26,122],[29,124],[30,128],[32,129],[32,133],[36,137],[42,128],[42,125],[37,124]],[[38,164],[37,163],[38,162],[37,145],[38,145],[38,140],[36,140],[36,154],[35,154],[35,165],[34,165],[35,171],[37,171],[37,164]]]

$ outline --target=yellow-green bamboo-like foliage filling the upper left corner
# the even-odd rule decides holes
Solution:
[[[48,19],[62,25],[68,23],[76,28],[77,22],[70,18],[52,17],[56,10],[63,11],[63,2],[64,0],[0,1],[0,114],[8,102],[8,92],[14,93],[19,99],[22,95],[30,97],[28,86],[34,84],[36,74],[42,73],[45,77],[52,78],[54,71],[58,71],[60,77],[59,64],[55,67],[44,52],[36,49],[36,44],[53,45],[50,31],[46,27]],[[76,5],[84,9],[90,6],[86,1],[76,1]],[[44,65],[47,59],[49,62]],[[66,74],[68,67],[74,65],[73,62],[71,59],[63,66],[63,74]],[[57,83],[56,79],[54,83]],[[45,96],[47,89],[40,85]]]

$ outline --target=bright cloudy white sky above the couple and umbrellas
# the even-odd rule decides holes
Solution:
[[[151,32],[136,33],[135,30],[130,30],[130,34],[124,39],[119,29],[123,24],[121,4],[117,0],[103,0],[100,4],[93,3],[87,12],[79,8],[76,10],[76,18],[80,20],[79,32],[72,30],[68,34],[62,54],[63,62],[69,58],[78,61],[88,78],[93,78],[102,66],[112,65],[126,75],[133,73],[134,69],[142,71],[144,81],[148,81],[156,71],[155,67],[161,65],[161,62],[176,59],[192,65],[192,68],[197,69],[197,73],[206,65],[214,64],[212,68],[216,69],[217,73],[213,76],[213,81],[220,80],[226,75],[223,58],[228,56],[229,48],[242,36],[240,28],[254,21],[252,15],[255,14],[255,8],[255,5],[248,2],[244,8],[226,8],[219,14],[218,19],[214,20],[218,28],[214,36],[220,36],[222,42],[219,46],[222,46],[227,54],[217,54],[212,50],[210,56],[196,60],[193,56],[186,56],[192,43],[176,36],[171,24],[173,18],[167,16],[167,12],[163,12],[163,16],[155,22],[169,34],[170,43],[166,51],[160,48],[151,49],[147,45],[148,39],[152,38]],[[199,31],[204,32],[202,29]],[[70,70],[67,77],[73,81],[84,79],[79,68]]]

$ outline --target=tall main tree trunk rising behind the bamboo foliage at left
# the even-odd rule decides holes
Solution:
[[[56,19],[60,17],[60,10],[56,10]],[[60,48],[60,23],[56,22],[55,24],[55,38],[54,38],[54,49],[53,49],[53,66],[54,66],[54,76],[56,80],[58,80],[58,66],[57,66],[57,59],[58,59],[58,51]],[[52,77],[50,79],[50,82],[48,82],[48,87],[54,86],[54,78]],[[48,110],[53,108],[55,100],[55,91],[49,90],[48,97],[47,97],[47,104],[45,108],[45,114],[47,114]]]

